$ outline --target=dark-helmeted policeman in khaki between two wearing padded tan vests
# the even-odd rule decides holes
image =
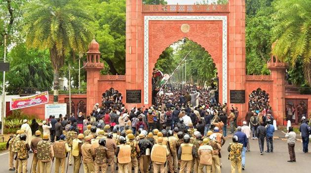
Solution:
[[[178,159],[177,159],[177,138],[173,135],[172,130],[168,130],[168,144],[170,154],[168,155],[168,165],[173,166],[174,173],[177,173]]]

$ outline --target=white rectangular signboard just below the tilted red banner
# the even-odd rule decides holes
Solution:
[[[57,103],[57,104],[45,104],[45,119],[48,119],[50,115],[54,115],[55,118],[59,118],[59,114],[66,115],[67,104]]]

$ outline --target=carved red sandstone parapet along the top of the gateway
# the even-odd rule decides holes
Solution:
[[[143,5],[143,12],[229,12],[229,5]]]

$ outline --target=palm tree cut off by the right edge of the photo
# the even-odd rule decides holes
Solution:
[[[311,0],[277,0],[272,29],[272,53],[295,66],[303,59],[304,76],[311,85]]]

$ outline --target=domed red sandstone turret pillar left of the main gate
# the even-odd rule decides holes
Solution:
[[[101,105],[102,97],[99,94],[99,79],[100,71],[104,68],[104,63],[100,62],[99,44],[93,40],[87,53],[87,62],[84,62],[84,69],[86,70],[86,115],[92,111],[95,103]]]

